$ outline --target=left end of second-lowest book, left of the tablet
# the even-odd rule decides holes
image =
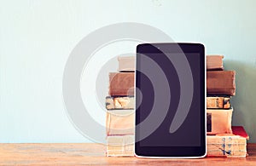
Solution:
[[[107,135],[134,135],[135,126],[134,110],[107,111]]]

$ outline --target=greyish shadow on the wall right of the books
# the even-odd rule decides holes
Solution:
[[[224,60],[224,70],[236,71],[236,96],[231,98],[234,107],[232,125],[242,125],[256,143],[256,62]]]

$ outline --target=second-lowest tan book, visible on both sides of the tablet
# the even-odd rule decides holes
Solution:
[[[107,135],[133,135],[134,110],[109,110],[106,117]],[[207,109],[207,135],[232,134],[233,108]]]

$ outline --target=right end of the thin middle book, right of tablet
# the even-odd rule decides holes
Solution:
[[[207,96],[207,108],[230,108],[230,96]]]

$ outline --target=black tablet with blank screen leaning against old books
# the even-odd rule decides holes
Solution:
[[[206,67],[201,43],[137,45],[137,157],[205,157]]]

